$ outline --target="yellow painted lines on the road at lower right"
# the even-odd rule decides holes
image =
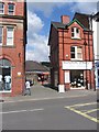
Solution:
[[[78,114],[80,114],[80,116],[82,116],[82,117],[85,117],[85,118],[87,118],[87,119],[96,122],[96,123],[99,123],[99,120],[98,120],[97,118],[94,118],[94,117],[87,114],[87,113],[97,111],[97,109],[88,110],[87,112],[81,112],[81,111],[75,109],[76,107],[84,107],[84,106],[96,105],[96,103],[97,103],[97,102],[78,103],[78,105],[68,106],[68,107],[65,107],[65,108],[72,110],[72,111],[74,111],[74,112],[76,112],[76,113],[78,113]]]

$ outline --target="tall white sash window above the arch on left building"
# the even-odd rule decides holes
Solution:
[[[7,31],[7,45],[13,45],[13,28],[8,28],[8,31]]]

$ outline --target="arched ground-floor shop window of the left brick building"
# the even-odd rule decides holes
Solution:
[[[11,90],[11,63],[8,59],[0,61],[0,91]]]

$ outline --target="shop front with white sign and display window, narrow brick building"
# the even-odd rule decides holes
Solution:
[[[92,62],[63,62],[65,87],[85,89],[88,84],[91,84],[91,69]]]

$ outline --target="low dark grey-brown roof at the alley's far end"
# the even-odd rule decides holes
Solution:
[[[48,72],[48,68],[46,66],[43,66],[42,64],[34,62],[34,61],[26,61],[25,62],[25,72],[35,72],[35,73],[42,73],[42,72]]]

